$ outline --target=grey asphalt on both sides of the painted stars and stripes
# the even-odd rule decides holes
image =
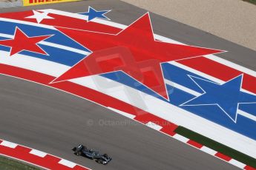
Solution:
[[[79,1],[1,9],[10,11],[52,8],[83,12],[112,9],[108,17],[130,24],[145,10],[116,0]],[[229,52],[218,56],[255,70],[256,52],[209,33],[151,14],[154,33],[186,44]],[[154,131],[82,98],[28,81],[0,75],[0,137],[63,157],[91,169],[236,169],[185,143]],[[78,143],[113,157],[108,166],[76,157]]]

